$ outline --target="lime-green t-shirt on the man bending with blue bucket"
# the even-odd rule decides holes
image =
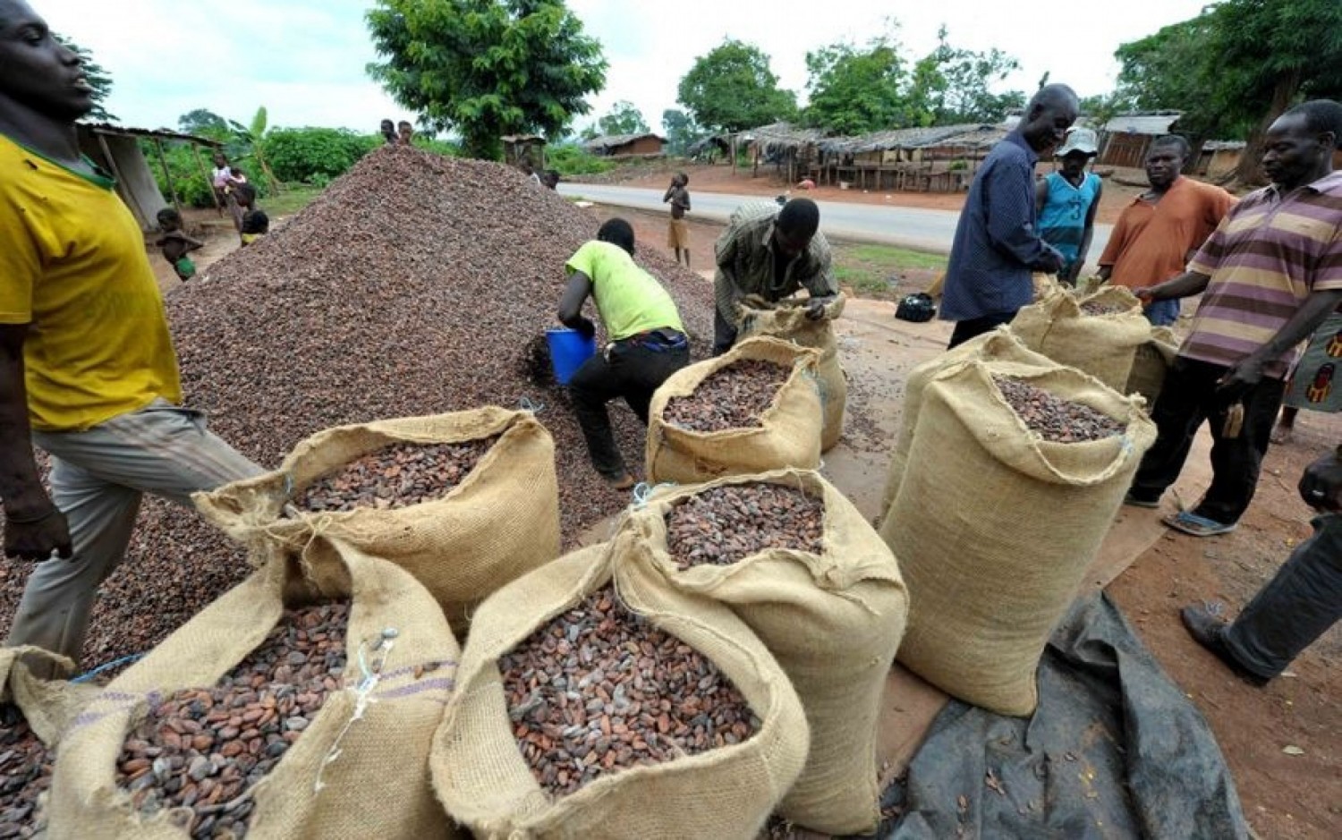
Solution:
[[[611,341],[650,330],[684,331],[675,301],[655,276],[639,268],[629,252],[608,242],[589,242],[569,258],[569,272],[592,279],[592,297]]]

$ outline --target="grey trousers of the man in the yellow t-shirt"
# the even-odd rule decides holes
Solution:
[[[28,576],[7,645],[32,644],[79,662],[98,586],[121,562],[152,492],[191,507],[191,494],[262,468],[205,428],[201,412],[156,400],[83,432],[34,432],[51,455],[51,501],[66,515],[74,557]]]

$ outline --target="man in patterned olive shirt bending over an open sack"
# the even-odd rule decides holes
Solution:
[[[829,267],[829,243],[820,232],[820,208],[809,199],[793,199],[781,208],[741,207],[731,213],[714,252],[714,356],[737,342],[737,306],[747,297],[774,303],[805,288],[811,318],[819,321],[833,311],[828,305],[837,299],[839,283]]]

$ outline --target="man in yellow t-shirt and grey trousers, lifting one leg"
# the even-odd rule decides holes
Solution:
[[[140,225],[79,154],[91,93],[42,17],[0,0],[0,499],[5,557],[39,561],[5,644],[76,662],[141,495],[191,505],[260,471],[178,405]]]

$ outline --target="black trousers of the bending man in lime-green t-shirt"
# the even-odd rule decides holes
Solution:
[[[569,396],[597,472],[611,479],[623,478],[628,472],[620,448],[615,444],[605,404],[624,397],[639,420],[647,424],[652,392],[688,364],[687,345],[672,350],[623,341],[616,342],[609,353],[597,353],[578,368],[569,380]]]

